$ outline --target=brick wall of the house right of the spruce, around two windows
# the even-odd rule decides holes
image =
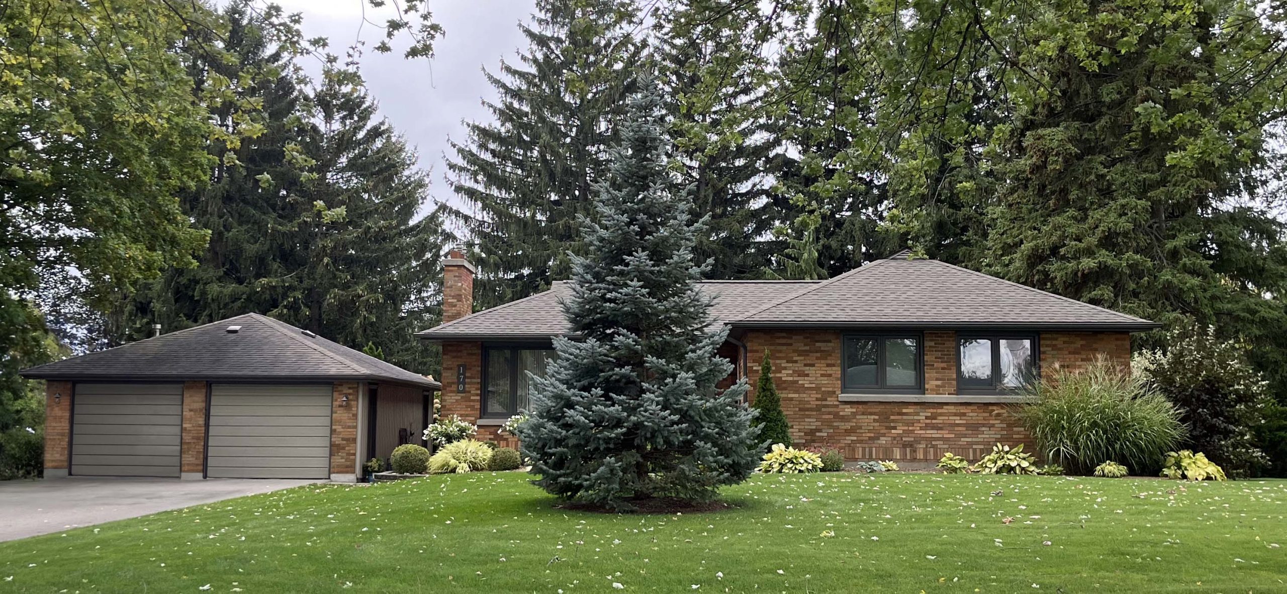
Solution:
[[[978,459],[999,441],[1031,441],[1006,404],[842,402],[840,332],[749,330],[743,342],[755,360],[770,350],[773,382],[797,444],[839,447],[849,459],[937,460],[946,451]],[[1048,333],[1039,347],[1044,368],[1085,366],[1099,352],[1124,364],[1130,360],[1126,333]],[[925,332],[924,350],[925,393],[955,395],[955,333]],[[759,366],[748,372],[754,384]]]

